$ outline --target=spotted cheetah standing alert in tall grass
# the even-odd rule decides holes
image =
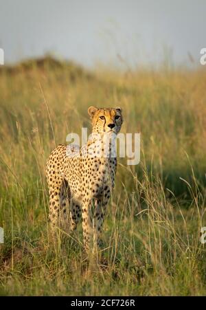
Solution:
[[[102,244],[102,224],[117,169],[111,137],[115,140],[123,122],[119,107],[89,107],[88,113],[92,133],[87,144],[79,149],[72,144],[60,144],[52,151],[46,164],[52,232],[56,228],[73,232],[82,218],[86,252],[89,252],[92,242],[97,247]]]

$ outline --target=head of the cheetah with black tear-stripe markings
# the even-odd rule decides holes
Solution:
[[[93,132],[119,133],[123,123],[121,108],[98,109],[96,107],[89,107],[88,113],[91,117]]]

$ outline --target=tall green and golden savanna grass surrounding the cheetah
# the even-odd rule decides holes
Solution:
[[[205,71],[90,72],[50,58],[0,71],[1,295],[205,295]],[[119,159],[100,258],[49,238],[45,162],[89,105],[120,106],[141,162]]]

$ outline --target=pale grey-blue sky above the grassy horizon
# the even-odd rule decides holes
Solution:
[[[0,0],[5,63],[47,52],[85,66],[198,64],[206,0]],[[117,55],[121,55],[123,61]]]

